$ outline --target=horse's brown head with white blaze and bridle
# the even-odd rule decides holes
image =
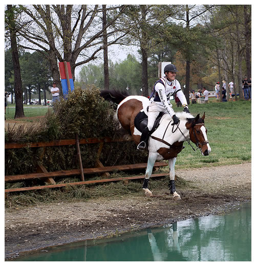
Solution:
[[[189,130],[189,138],[200,149],[202,155],[209,155],[211,149],[207,139],[207,129],[204,126],[205,113],[200,118],[198,114],[195,118],[188,118],[186,128]]]

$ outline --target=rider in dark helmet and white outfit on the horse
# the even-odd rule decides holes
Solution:
[[[172,108],[172,104],[169,103],[170,96],[177,93],[177,96],[184,107],[184,112],[189,113],[185,95],[181,90],[179,81],[175,79],[177,71],[178,70],[176,69],[175,65],[166,65],[164,68],[165,76],[157,80],[154,85],[153,93],[150,97],[150,103],[148,105],[147,127],[142,131],[140,144],[137,147],[137,149],[140,151],[145,149],[146,141],[150,137],[154,122],[160,112],[172,116],[173,123],[175,125],[179,123],[180,119],[176,116]]]

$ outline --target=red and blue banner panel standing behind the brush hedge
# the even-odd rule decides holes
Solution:
[[[71,73],[70,62],[59,62],[59,73],[63,97],[65,98],[65,96],[68,95],[69,90],[74,90],[74,81]]]

